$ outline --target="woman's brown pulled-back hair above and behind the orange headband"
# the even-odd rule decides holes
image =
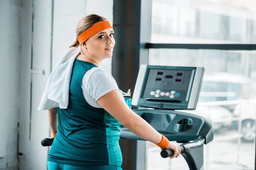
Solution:
[[[96,14],[90,14],[86,15],[83,17],[81,20],[79,20],[77,26],[76,26],[76,41],[73,42],[72,45],[70,45],[69,48],[71,47],[79,47],[79,41],[77,38],[79,35],[81,35],[84,31],[92,27],[94,24],[99,23],[101,21],[107,20],[106,18],[96,15]]]

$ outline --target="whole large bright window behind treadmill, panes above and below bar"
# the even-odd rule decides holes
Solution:
[[[152,0],[151,43],[255,44],[255,16],[253,0]],[[254,170],[256,51],[150,49],[148,64],[204,67],[197,109],[186,111],[214,123],[204,168]],[[147,145],[147,170],[189,170],[182,156],[163,159]]]

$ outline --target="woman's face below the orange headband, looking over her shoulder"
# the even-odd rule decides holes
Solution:
[[[85,54],[96,59],[103,60],[105,58],[111,58],[113,55],[113,48],[115,46],[115,39],[113,36],[113,29],[108,28],[90,37],[85,45],[82,45],[85,50]],[[87,54],[89,53],[89,54]]]

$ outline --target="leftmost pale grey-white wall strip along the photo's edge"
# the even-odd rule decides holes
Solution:
[[[18,162],[20,6],[20,0],[0,0],[0,169]]]

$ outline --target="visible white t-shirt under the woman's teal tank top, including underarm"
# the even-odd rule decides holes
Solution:
[[[116,80],[104,68],[94,67],[84,74],[82,91],[87,103],[95,108],[102,108],[97,100],[110,91],[118,90]]]

